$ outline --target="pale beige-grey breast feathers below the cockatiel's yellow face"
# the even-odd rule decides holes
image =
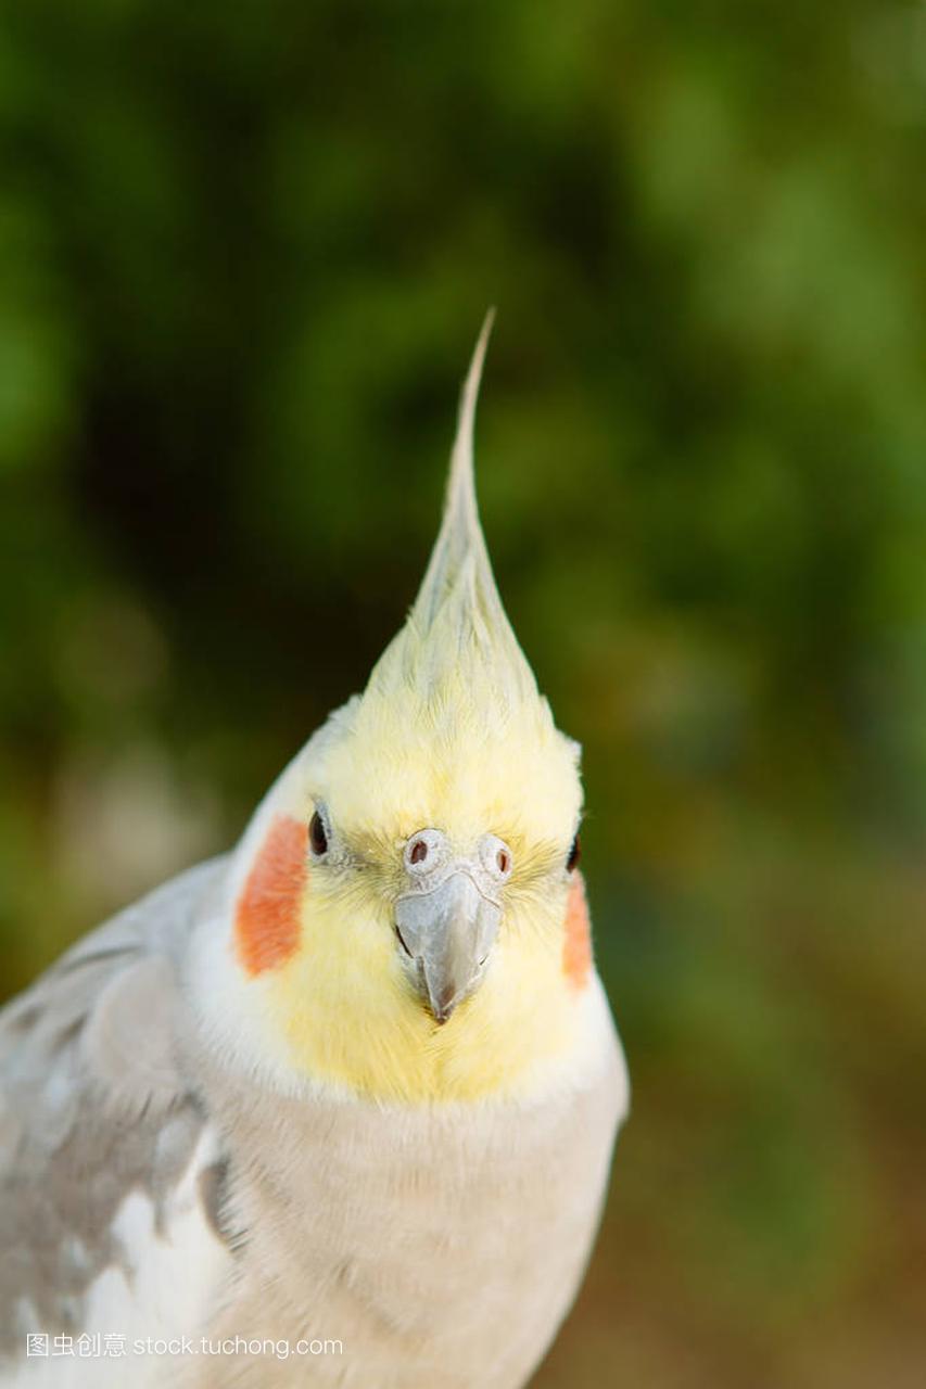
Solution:
[[[216,1078],[247,1158],[232,1200],[247,1242],[210,1335],[343,1347],[239,1365],[242,1385],[527,1382],[576,1295],[626,1111],[603,995],[599,1018],[583,1074],[530,1104],[306,1101]],[[197,1386],[228,1382],[214,1368]]]

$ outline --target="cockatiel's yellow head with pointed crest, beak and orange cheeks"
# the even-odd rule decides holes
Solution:
[[[441,532],[399,635],[259,807],[231,879],[236,1004],[279,1064],[381,1099],[512,1093],[581,1029],[578,746],[480,529],[463,389]]]

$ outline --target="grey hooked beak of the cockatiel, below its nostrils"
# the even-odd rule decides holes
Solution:
[[[463,868],[450,871],[430,892],[399,897],[399,940],[435,1022],[446,1022],[478,983],[501,915],[502,908],[480,892]]]

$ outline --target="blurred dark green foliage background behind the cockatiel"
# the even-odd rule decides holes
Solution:
[[[3,990],[229,845],[456,392],[634,1081],[542,1389],[923,1382],[926,8],[15,0]]]

